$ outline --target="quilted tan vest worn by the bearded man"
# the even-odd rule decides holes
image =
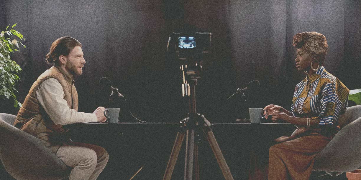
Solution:
[[[71,109],[78,111],[78,93],[74,86],[73,76],[64,70],[53,66],[46,70],[32,84],[22,107],[20,108],[14,126],[39,138],[56,154],[58,148],[69,138],[62,125],[56,125],[44,111],[36,98],[36,90],[48,78],[55,78],[63,87],[64,99]]]

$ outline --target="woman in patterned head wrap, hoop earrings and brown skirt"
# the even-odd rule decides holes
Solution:
[[[297,84],[291,111],[270,104],[265,107],[272,121],[286,121],[299,129],[282,136],[269,149],[269,180],[308,180],[314,157],[339,131],[339,115],[344,113],[349,90],[322,66],[327,53],[326,37],[318,32],[293,36],[298,71],[306,78]],[[268,116],[267,116],[268,117]]]

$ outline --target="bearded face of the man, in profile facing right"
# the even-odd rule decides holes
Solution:
[[[73,75],[82,75],[82,68],[85,64],[85,59],[83,55],[84,53],[82,51],[82,47],[75,46],[75,48],[70,51],[69,55],[66,56],[67,61],[65,64],[65,69]]]

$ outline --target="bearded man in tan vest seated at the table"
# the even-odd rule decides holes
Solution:
[[[69,180],[95,180],[103,171],[109,155],[102,147],[74,143],[62,125],[104,122],[104,107],[93,113],[78,111],[74,77],[80,76],[85,60],[82,44],[72,37],[60,37],[51,45],[45,71],[31,86],[14,126],[39,138],[66,165],[73,167]]]

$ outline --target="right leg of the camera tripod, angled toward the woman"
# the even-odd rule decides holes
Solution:
[[[226,180],[233,180],[231,171],[227,165],[226,159],[223,157],[222,151],[219,148],[216,138],[214,137],[212,129],[210,127],[204,127],[204,132],[207,136],[210,148],[213,150],[214,156],[216,156],[219,167],[222,170],[223,176]]]

